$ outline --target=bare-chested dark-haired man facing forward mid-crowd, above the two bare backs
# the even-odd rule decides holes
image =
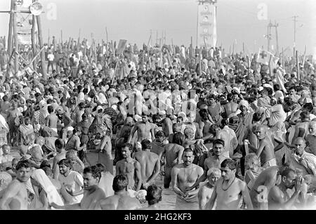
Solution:
[[[131,143],[134,133],[137,131],[137,150],[141,150],[140,142],[142,140],[154,140],[154,128],[152,123],[150,123],[150,121],[148,120],[148,115],[143,113],[142,118],[143,121],[137,122],[135,126],[133,126],[133,129],[131,129],[131,135],[129,136],[129,140],[127,140],[127,143]]]

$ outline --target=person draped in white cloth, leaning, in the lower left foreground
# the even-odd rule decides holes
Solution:
[[[42,169],[33,171],[31,183],[34,189],[34,199],[30,205],[30,209],[50,209],[49,204],[55,203],[63,206],[62,197],[60,197],[56,187],[51,183],[51,180],[46,176]]]

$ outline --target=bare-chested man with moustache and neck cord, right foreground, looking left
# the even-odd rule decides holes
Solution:
[[[220,170],[222,177],[216,181],[206,209],[213,209],[216,201],[216,210],[237,210],[241,198],[244,199],[247,209],[253,209],[246,183],[235,176],[235,162],[225,159],[220,164]]]

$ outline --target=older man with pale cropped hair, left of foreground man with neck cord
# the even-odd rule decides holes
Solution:
[[[216,181],[220,178],[220,169],[211,168],[207,171],[207,179],[209,180],[206,184],[199,187],[199,209],[205,209],[205,205],[209,202],[211,195],[214,190],[214,185]]]

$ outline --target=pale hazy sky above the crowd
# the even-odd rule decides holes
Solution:
[[[27,0],[25,0],[27,1]],[[10,8],[10,0],[0,0],[0,10]],[[197,1],[195,0],[41,0],[45,13],[41,15],[44,40],[50,34],[60,39],[77,38],[81,28],[81,38],[91,40],[91,33],[97,40],[106,39],[107,27],[109,39],[118,41],[127,39],[130,43],[147,44],[152,29],[152,44],[166,32],[166,43],[196,44],[197,35]],[[51,20],[55,4],[56,18]],[[267,6],[268,20],[259,20],[259,4]],[[269,20],[279,23],[279,48],[293,47],[294,15],[296,23],[296,48],[303,53],[305,45],[308,54],[316,54],[316,11],[315,0],[218,0],[217,4],[218,45],[223,45],[228,52],[236,40],[237,51],[258,51],[267,47],[264,35],[267,33]],[[314,13],[315,14],[315,13]],[[8,14],[0,15],[0,35],[8,35]],[[272,28],[272,41],[275,44],[275,29]],[[287,51],[291,54],[291,50]]]

